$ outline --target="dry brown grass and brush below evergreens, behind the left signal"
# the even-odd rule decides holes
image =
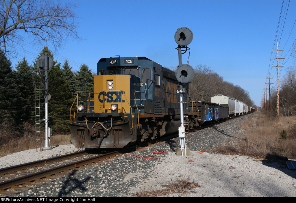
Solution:
[[[70,144],[70,135],[52,136],[50,142],[51,146]],[[44,146],[44,134],[41,135],[41,146]],[[23,132],[19,133],[9,122],[0,121],[0,157],[29,149],[36,149],[35,126],[32,123],[26,123]]]

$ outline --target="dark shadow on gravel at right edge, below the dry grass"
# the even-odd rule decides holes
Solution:
[[[280,170],[286,175],[296,179],[296,169],[289,169],[286,164],[286,161],[288,161],[287,157],[268,154],[262,161],[262,164],[269,166],[271,168],[276,168],[277,170]]]

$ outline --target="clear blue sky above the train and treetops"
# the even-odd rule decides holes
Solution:
[[[96,72],[100,58],[112,55],[145,56],[174,69],[178,52],[174,34],[178,27],[193,32],[189,64],[206,64],[224,80],[239,85],[260,106],[268,71],[276,85],[275,38],[280,40],[280,61],[284,69],[294,66],[289,57],[296,39],[296,1],[63,1],[78,4],[78,34],[82,41],[67,41],[54,59],[70,60],[73,70],[85,63]],[[289,9],[287,12],[287,7]],[[287,12],[287,16],[286,16]],[[285,21],[285,22],[284,22]],[[284,25],[284,26],[283,26]],[[291,32],[292,30],[292,32]],[[281,34],[282,32],[282,34]],[[289,34],[291,33],[290,37]],[[288,39],[289,37],[289,39]],[[29,40],[29,39],[28,39]],[[286,43],[287,42],[287,43]],[[44,45],[24,44],[23,56],[33,61]],[[51,49],[51,45],[48,45]],[[294,47],[292,47],[293,49]],[[183,64],[188,55],[184,54]],[[288,60],[287,60],[288,59]],[[271,62],[271,63],[270,63]],[[284,69],[280,77],[284,76]]]

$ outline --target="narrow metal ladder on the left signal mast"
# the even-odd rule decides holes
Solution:
[[[39,70],[32,70],[32,71],[39,71]],[[34,75],[32,72],[32,78],[33,78],[33,86],[34,86],[34,94],[35,94],[35,139],[36,139],[36,152],[41,150],[41,110],[40,110],[40,102],[41,102],[41,87],[43,86],[42,84],[42,78],[43,75],[39,71],[39,87],[37,88],[36,81],[34,79]]]

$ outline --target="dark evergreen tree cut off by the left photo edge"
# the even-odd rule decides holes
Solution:
[[[12,70],[11,62],[0,49],[0,119],[8,119],[11,122],[14,122],[18,108],[15,79],[16,74]]]

